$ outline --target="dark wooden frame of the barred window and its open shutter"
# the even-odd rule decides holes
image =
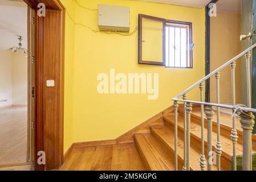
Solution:
[[[148,18],[148,19],[153,19],[153,20],[158,20],[159,22],[163,22],[163,50],[162,50],[162,59],[163,62],[159,63],[156,61],[147,61],[147,60],[143,60],[142,59],[142,20],[143,18]],[[190,67],[166,67],[166,55],[165,55],[165,47],[166,47],[166,33],[165,33],[165,28],[167,25],[166,23],[173,23],[173,24],[182,24],[182,25],[188,25],[189,26],[189,44],[190,44],[190,50],[188,51],[188,56],[190,59]],[[163,19],[163,18],[158,18],[155,16],[149,16],[149,15],[144,15],[144,14],[139,14],[139,51],[138,51],[138,63],[139,64],[148,64],[148,65],[160,65],[160,66],[164,66],[166,68],[193,68],[193,37],[192,37],[192,22],[182,22],[182,21],[178,21],[178,20],[167,20],[167,19]]]

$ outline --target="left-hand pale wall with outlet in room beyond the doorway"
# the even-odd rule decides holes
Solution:
[[[0,49],[0,107],[13,104],[12,100],[12,63],[13,55],[9,51]]]

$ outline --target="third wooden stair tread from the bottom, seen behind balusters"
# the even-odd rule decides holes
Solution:
[[[164,116],[165,121],[172,122],[174,125],[174,117],[173,116]],[[183,129],[184,120],[183,117],[178,115],[178,127]],[[193,118],[191,118],[190,122],[190,133],[195,135],[197,138],[201,139],[201,126],[198,125],[196,122],[193,122]],[[204,129],[205,135],[205,143],[207,142],[207,129]],[[217,143],[217,133],[212,131],[212,144],[215,147]],[[228,156],[233,156],[233,143],[230,138],[226,138],[221,135],[221,145],[222,145],[222,154],[227,154]],[[242,144],[237,143],[237,155],[242,155]],[[231,160],[231,158],[230,158]]]

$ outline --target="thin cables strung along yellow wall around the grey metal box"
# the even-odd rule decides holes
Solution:
[[[79,3],[77,0],[73,0],[73,1],[75,1],[75,3],[76,3],[78,6],[82,7],[83,9],[90,10],[90,11],[97,11],[97,9],[89,9],[89,8],[87,8],[87,7],[84,7],[84,6],[80,5],[80,3]],[[67,11],[67,15],[70,17],[70,19],[72,20],[72,22],[73,22],[75,25],[83,26],[83,27],[85,27],[85,28],[91,30],[92,32],[95,32],[95,33],[103,32],[104,34],[108,34],[108,35],[117,34],[117,35],[121,35],[121,36],[131,36],[131,35],[135,34],[135,33],[137,32],[137,30],[138,30],[138,26],[135,27],[134,30],[133,30],[131,33],[127,33],[127,34],[121,33],[121,32],[116,32],[116,31],[109,31],[109,32],[107,32],[107,31],[94,30],[93,28],[88,27],[88,26],[86,26],[85,24],[76,23],[75,20],[72,18],[72,16],[68,13],[68,10],[67,10],[66,7],[65,7],[65,9],[66,9],[66,11]]]

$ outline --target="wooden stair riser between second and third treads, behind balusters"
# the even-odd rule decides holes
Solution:
[[[167,127],[169,127],[170,130],[174,131],[174,124],[169,122],[169,121],[165,121],[164,123]],[[180,137],[183,138],[183,128],[178,126],[178,135]],[[207,137],[207,136],[205,136]],[[205,151],[205,155],[207,154],[207,142],[205,141],[205,147],[204,147],[204,151]],[[190,147],[195,147],[197,148],[198,151],[201,151],[201,138],[197,137],[197,135],[194,135],[193,133],[190,133]],[[215,151],[215,146],[212,145],[212,150]],[[198,161],[200,159],[200,156],[198,157]],[[207,158],[206,158],[207,160]],[[198,162],[199,163],[199,162]],[[229,171],[230,170],[230,165],[231,165],[231,157],[226,154],[226,152],[222,152],[222,157],[221,157],[221,168],[224,169],[225,171]]]

